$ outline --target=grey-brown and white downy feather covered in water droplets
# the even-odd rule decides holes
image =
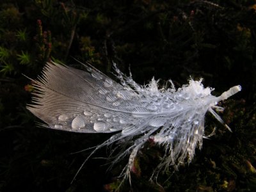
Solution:
[[[205,113],[209,111],[224,124],[214,109],[223,110],[217,106],[218,102],[241,90],[241,86],[234,86],[220,97],[215,97],[211,95],[212,88],[204,88],[202,79],[190,79],[188,84],[177,90],[170,80],[172,88],[159,90],[158,81],[154,78],[141,86],[131,74],[125,76],[120,72],[115,63],[113,68],[120,83],[89,65],[85,67],[87,72],[54,62],[47,63],[42,76],[33,81],[36,91],[33,104],[27,108],[51,129],[116,132],[95,150],[116,141],[124,145],[132,143],[113,161],[115,164],[129,155],[122,172],[124,178],[130,177],[136,154],[148,140],[161,145],[166,151],[153,175],[169,166],[177,168],[180,163],[191,162],[195,148],[202,147],[205,137]]]

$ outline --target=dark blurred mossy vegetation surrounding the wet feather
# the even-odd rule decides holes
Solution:
[[[89,151],[111,134],[76,134],[38,128],[26,110],[35,78],[46,61],[81,68],[90,62],[111,76],[115,61],[139,83],[189,76],[219,95],[241,84],[223,102],[221,116],[232,133],[207,115],[204,140],[179,172],[150,173],[161,148],[148,142],[136,159],[132,186],[120,191],[256,191],[256,1],[57,1],[1,0],[0,4],[0,191],[115,191],[126,161],[106,173],[104,159]],[[102,149],[95,157],[107,157]],[[127,160],[127,159],[126,159]]]

